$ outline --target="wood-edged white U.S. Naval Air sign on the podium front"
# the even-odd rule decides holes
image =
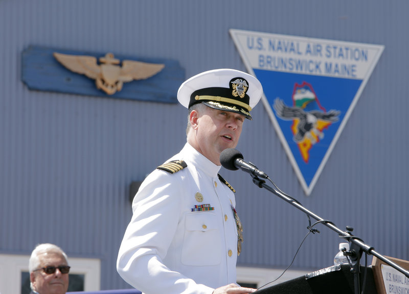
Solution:
[[[409,261],[392,257],[387,258],[404,269],[409,270]],[[375,256],[372,259],[372,270],[379,294],[409,293],[409,278]]]

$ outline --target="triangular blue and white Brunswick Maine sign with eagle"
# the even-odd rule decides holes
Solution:
[[[384,46],[230,30],[309,195]]]

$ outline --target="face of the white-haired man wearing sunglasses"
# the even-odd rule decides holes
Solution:
[[[48,252],[38,256],[41,267],[67,265],[64,256],[56,252]],[[47,274],[42,269],[32,272],[30,280],[34,289],[40,294],[64,294],[68,289],[69,276],[61,274],[57,268],[54,274]]]

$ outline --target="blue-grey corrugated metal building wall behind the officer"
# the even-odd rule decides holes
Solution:
[[[179,105],[30,91],[20,81],[29,45],[176,59],[186,77],[245,70],[229,29],[385,45],[307,198],[259,104],[238,149],[277,185],[338,227],[351,225],[384,255],[409,259],[406,192],[409,2],[363,0],[0,0],[0,253],[54,242],[101,258],[101,289],[128,287],[115,261],[131,216],[129,185],[185,142]],[[244,223],[239,265],[285,268],[306,234],[303,213],[223,171]],[[339,239],[320,228],[293,268],[331,265]]]

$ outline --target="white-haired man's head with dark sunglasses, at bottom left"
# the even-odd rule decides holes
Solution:
[[[29,261],[31,293],[65,294],[70,266],[66,254],[54,244],[36,246]]]

